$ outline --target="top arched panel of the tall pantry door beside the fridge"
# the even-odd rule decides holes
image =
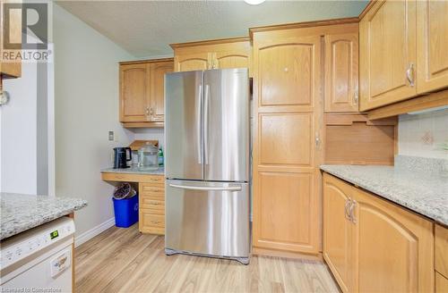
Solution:
[[[316,44],[319,38],[303,43],[267,46],[258,53],[260,105],[313,105],[316,71]],[[316,43],[314,43],[316,42]]]

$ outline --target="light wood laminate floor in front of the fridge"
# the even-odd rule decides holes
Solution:
[[[338,292],[322,263],[253,256],[235,261],[164,253],[137,225],[110,228],[75,250],[75,292]]]

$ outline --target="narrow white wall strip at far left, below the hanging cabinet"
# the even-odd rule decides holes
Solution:
[[[1,106],[0,169],[2,192],[36,194],[37,63],[23,63],[22,77],[4,80],[10,101]]]

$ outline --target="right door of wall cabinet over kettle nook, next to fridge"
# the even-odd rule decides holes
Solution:
[[[151,121],[163,121],[165,113],[165,74],[173,71],[173,63],[151,63],[150,116]]]

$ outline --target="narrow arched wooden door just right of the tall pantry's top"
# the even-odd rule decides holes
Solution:
[[[358,112],[358,29],[325,36],[325,112]]]

